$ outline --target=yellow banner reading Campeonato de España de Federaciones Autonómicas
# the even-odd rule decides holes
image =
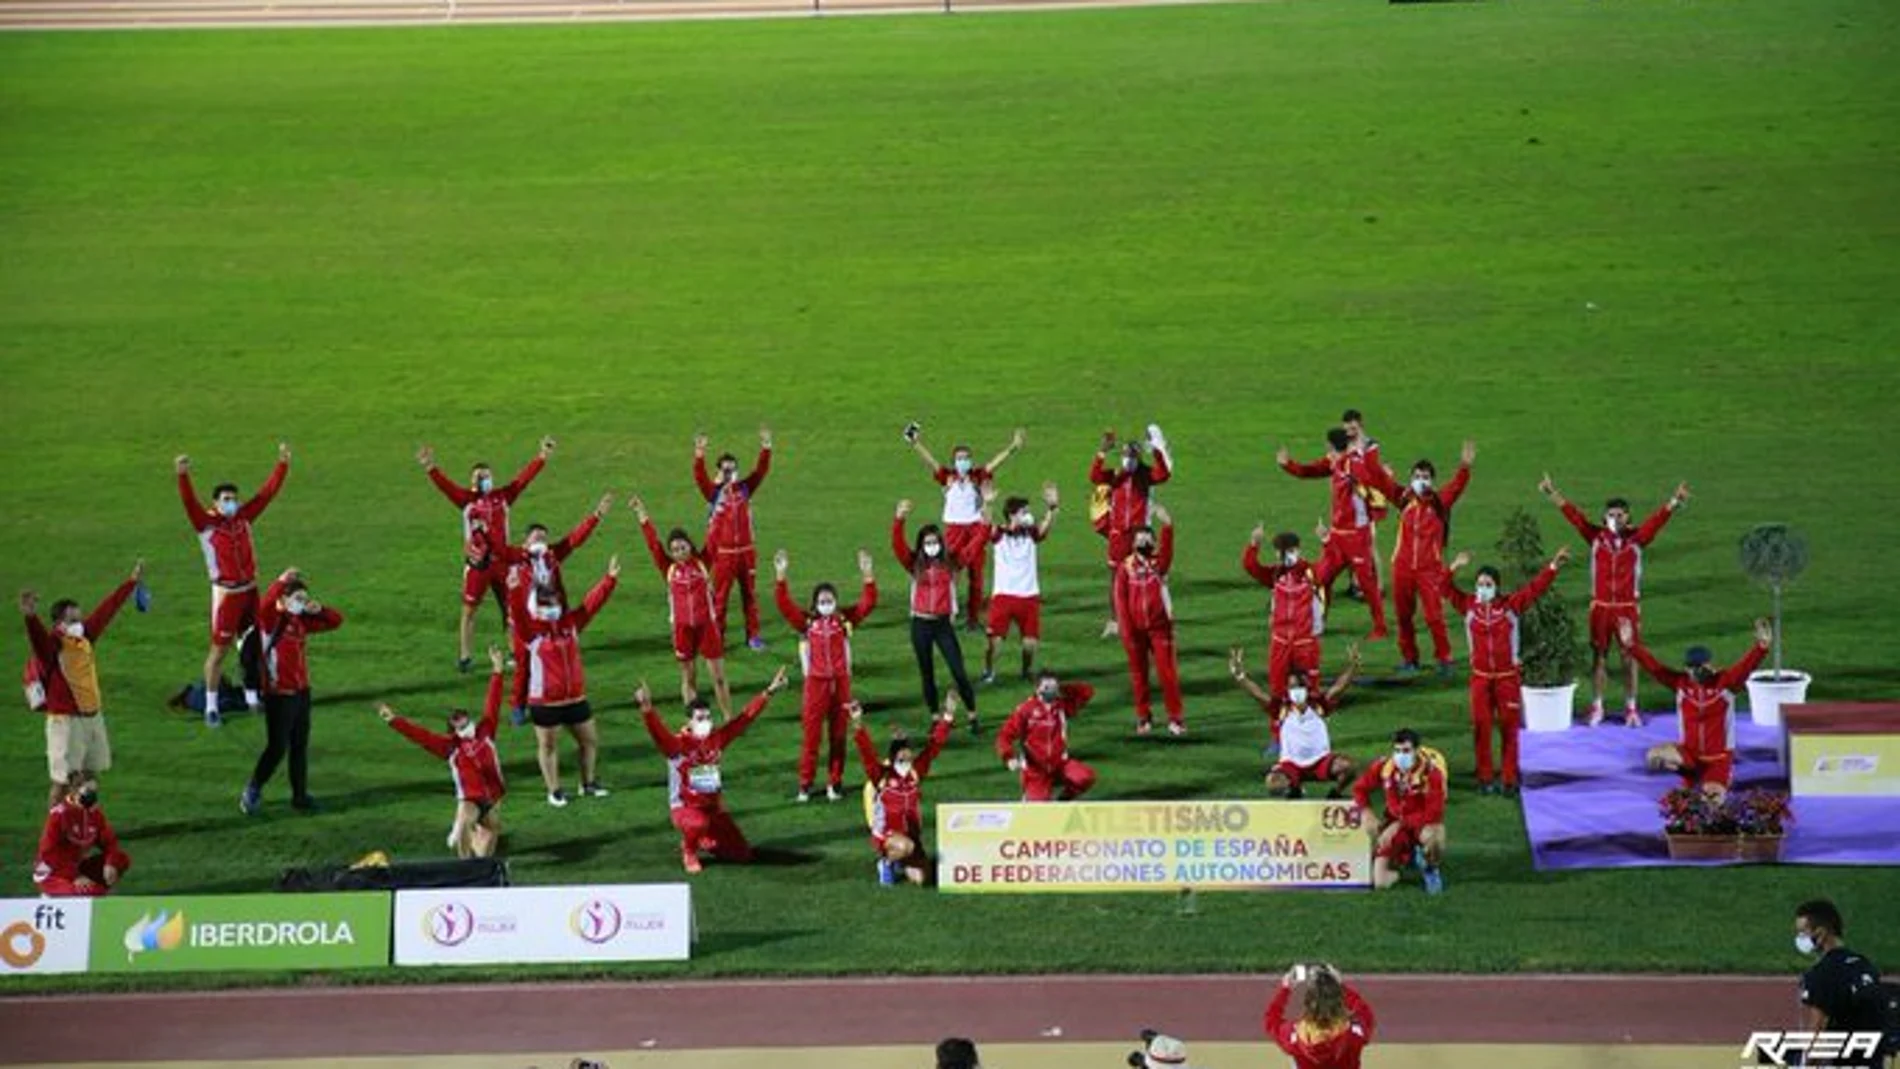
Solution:
[[[958,894],[1372,885],[1349,801],[939,805],[937,853]]]

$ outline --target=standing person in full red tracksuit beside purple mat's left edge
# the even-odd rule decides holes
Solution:
[[[1465,638],[1471,646],[1471,742],[1478,752],[1478,794],[1497,794],[1492,782],[1492,725],[1505,737],[1503,780],[1505,794],[1518,794],[1518,727],[1524,714],[1524,689],[1518,678],[1518,619],[1531,606],[1558,568],[1569,560],[1569,549],[1556,551],[1550,564],[1537,570],[1530,583],[1503,594],[1499,575],[1492,566],[1478,570],[1474,592],[1467,594],[1452,579],[1471,564],[1471,554],[1459,553],[1446,573],[1444,591],[1452,608],[1465,617]]]

